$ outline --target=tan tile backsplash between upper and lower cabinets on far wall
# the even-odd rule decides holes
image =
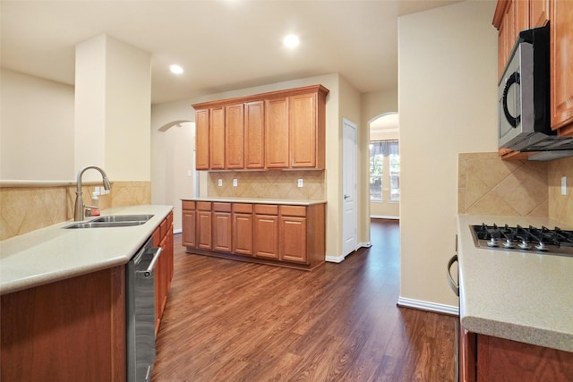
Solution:
[[[221,186],[218,186],[219,179]],[[298,187],[299,179],[303,180],[303,187]],[[210,197],[326,199],[324,171],[318,170],[210,172],[207,193]]]

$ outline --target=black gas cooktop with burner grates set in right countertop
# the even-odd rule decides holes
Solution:
[[[475,246],[573,257],[573,231],[529,225],[470,225]]]

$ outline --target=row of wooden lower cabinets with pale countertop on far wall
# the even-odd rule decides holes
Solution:
[[[325,261],[323,200],[187,198],[187,252],[312,270]]]

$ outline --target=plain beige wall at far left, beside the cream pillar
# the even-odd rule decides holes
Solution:
[[[73,87],[1,76],[0,179],[73,180]]]

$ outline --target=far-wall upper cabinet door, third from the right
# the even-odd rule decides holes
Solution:
[[[244,107],[244,165],[246,168],[264,168],[265,104],[254,101]]]

